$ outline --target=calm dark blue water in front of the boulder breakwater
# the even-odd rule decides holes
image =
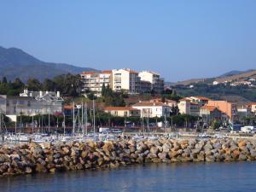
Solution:
[[[0,178],[0,191],[256,191],[256,163],[127,166]]]

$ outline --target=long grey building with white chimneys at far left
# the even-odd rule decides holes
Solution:
[[[0,96],[1,113],[11,119],[17,115],[62,113],[63,99],[60,92],[24,90],[20,96]]]

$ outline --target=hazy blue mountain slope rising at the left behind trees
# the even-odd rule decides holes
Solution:
[[[27,54],[22,49],[5,49],[0,46],[0,79],[3,77],[8,80],[20,78],[26,82],[27,79],[35,78],[43,81],[64,73],[78,74],[84,71],[96,71],[96,69],[76,67],[65,63],[44,62]]]

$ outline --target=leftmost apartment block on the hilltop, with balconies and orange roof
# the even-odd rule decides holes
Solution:
[[[112,88],[112,71],[84,72],[81,74],[81,80],[83,92],[92,91],[96,96],[100,96],[103,84]]]

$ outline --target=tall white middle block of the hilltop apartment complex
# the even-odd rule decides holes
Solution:
[[[138,73],[131,69],[113,69],[112,88],[113,91],[124,90],[128,94],[140,93],[140,78]]]

